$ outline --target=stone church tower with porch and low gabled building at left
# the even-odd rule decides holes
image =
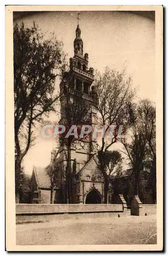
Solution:
[[[68,76],[68,79],[66,78]],[[83,40],[79,23],[76,29],[74,40],[74,57],[69,59],[69,72],[63,76],[60,83],[60,92],[64,88],[69,88],[69,95],[73,97],[74,92],[80,91],[82,98],[92,105],[96,99],[94,86],[94,70],[88,68],[88,53],[83,53]],[[66,96],[61,97],[61,120],[64,118],[64,104]],[[95,111],[91,108],[90,123],[94,124]],[[96,157],[96,145],[98,144],[92,136],[87,139],[79,139],[76,145],[70,148],[71,173],[73,175],[71,193],[73,203],[76,204],[102,204],[104,203],[104,177],[99,169]],[[67,166],[67,147],[61,145],[59,157],[54,166],[59,166],[55,173],[56,182],[54,183],[54,203],[69,203],[67,198],[66,177],[64,176]],[[74,168],[75,166],[75,168]],[[31,178],[31,203],[51,203],[51,184],[53,163],[45,168],[34,166]]]

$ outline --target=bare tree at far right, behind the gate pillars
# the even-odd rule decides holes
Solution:
[[[134,194],[138,195],[139,175],[143,166],[151,162],[156,164],[155,146],[155,107],[148,99],[140,100],[134,109],[136,121],[131,127],[131,140],[124,138],[124,154],[127,156],[135,178]]]

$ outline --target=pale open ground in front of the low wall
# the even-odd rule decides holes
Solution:
[[[39,222],[39,223],[37,223]],[[57,217],[16,225],[17,245],[156,244],[156,216]]]

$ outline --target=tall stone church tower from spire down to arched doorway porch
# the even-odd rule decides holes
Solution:
[[[69,100],[73,98],[75,91],[82,93],[82,98],[91,105],[90,123],[94,124],[95,113],[92,110],[92,103],[96,100],[96,93],[92,82],[94,80],[93,68],[88,68],[88,53],[83,53],[83,40],[79,24],[76,29],[74,40],[74,57],[69,59],[69,72],[65,72],[60,83],[61,97],[61,120],[64,119],[64,106],[67,102],[67,91]],[[66,93],[64,93],[66,91]],[[103,203],[104,201],[104,178],[98,167],[98,159],[95,157],[97,141],[91,135],[87,139],[79,139],[73,142],[70,148],[70,163],[72,178],[72,197],[74,203]],[[64,177],[67,166],[67,147],[64,143],[61,148],[60,157],[57,163],[61,166],[60,189],[64,197],[66,189],[66,178]],[[76,166],[74,171],[74,164]],[[57,201],[57,200],[56,200]],[[67,198],[64,202],[68,203]]]

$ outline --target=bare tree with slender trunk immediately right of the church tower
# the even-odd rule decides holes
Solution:
[[[100,73],[97,74],[94,84],[94,90],[97,93],[97,102],[94,104],[95,110],[98,113],[97,123],[99,126],[104,127],[99,161],[105,179],[105,203],[107,203],[108,178],[105,162],[106,152],[117,142],[119,125],[123,125],[123,132],[125,134],[131,125],[131,105],[135,91],[131,89],[131,77],[127,78],[125,70],[117,72],[106,68],[102,75]],[[115,125],[113,137],[107,138],[111,125]]]

